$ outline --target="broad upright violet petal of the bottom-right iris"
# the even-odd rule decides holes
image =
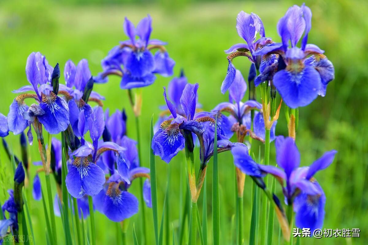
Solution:
[[[300,153],[293,138],[276,137],[276,161],[284,169],[286,177],[300,164]]]

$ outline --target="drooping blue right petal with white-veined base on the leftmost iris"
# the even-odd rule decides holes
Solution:
[[[65,131],[69,125],[69,108],[67,102],[50,92],[49,95],[42,94],[40,107],[45,113],[38,116],[38,120],[43,124],[50,134],[59,134]]]

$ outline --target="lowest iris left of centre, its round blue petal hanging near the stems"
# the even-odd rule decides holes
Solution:
[[[107,180],[104,188],[93,198],[96,209],[114,222],[121,222],[138,212],[138,199],[128,192],[134,179],[148,177],[149,169],[137,167],[128,170],[128,179],[122,178],[115,171]],[[143,197],[148,207],[152,207],[151,184],[146,179],[143,186]]]

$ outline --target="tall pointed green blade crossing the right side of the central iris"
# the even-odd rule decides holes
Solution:
[[[215,122],[215,135],[217,135],[217,116]],[[220,245],[220,189],[219,166],[217,164],[217,137],[213,142],[213,173],[212,173],[212,233],[213,245]]]

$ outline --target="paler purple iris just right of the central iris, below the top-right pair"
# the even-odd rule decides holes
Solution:
[[[249,134],[251,129],[251,110],[254,111],[253,132],[255,136],[261,140],[265,140],[265,122],[263,120],[262,105],[255,100],[241,102],[247,91],[247,84],[239,70],[236,70],[236,75],[233,83],[229,87],[230,102],[223,102],[217,105],[212,111],[218,111],[217,124],[222,128],[227,138],[231,138],[234,131],[243,132],[244,136]],[[259,110],[259,111],[258,111]],[[223,113],[230,113],[225,116]],[[270,140],[275,139],[275,128],[277,121],[272,125],[270,132]],[[243,125],[243,126],[242,126]],[[240,127],[240,128],[239,128]]]

